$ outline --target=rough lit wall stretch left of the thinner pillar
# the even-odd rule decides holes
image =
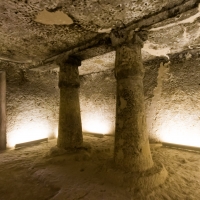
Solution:
[[[0,63],[7,79],[7,145],[56,134],[58,74],[33,72],[22,65]]]

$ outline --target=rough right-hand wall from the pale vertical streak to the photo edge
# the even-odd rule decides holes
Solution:
[[[199,61],[200,52],[189,51],[170,57],[170,63],[157,63],[157,85],[147,104],[151,138],[200,145]]]

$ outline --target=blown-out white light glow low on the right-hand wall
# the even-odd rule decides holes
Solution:
[[[200,147],[200,121],[198,116],[179,114],[167,118],[158,128],[162,142]]]

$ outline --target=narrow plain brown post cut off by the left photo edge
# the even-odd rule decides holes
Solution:
[[[0,150],[6,149],[6,73],[0,71]]]

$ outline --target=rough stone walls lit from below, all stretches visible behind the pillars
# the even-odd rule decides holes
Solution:
[[[200,52],[144,62],[147,128],[152,142],[200,146]],[[92,67],[92,66],[91,66]],[[114,63],[113,63],[114,68]],[[24,70],[0,62],[7,74],[8,146],[57,134],[58,72]],[[83,132],[114,134],[116,80],[113,69],[80,76]],[[38,135],[36,134],[38,133]],[[40,138],[34,138],[40,137]]]

